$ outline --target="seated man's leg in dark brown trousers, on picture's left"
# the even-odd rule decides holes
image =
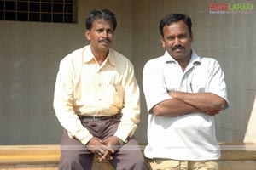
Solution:
[[[67,131],[63,132],[60,170],[90,170],[93,156],[77,139],[70,139]]]

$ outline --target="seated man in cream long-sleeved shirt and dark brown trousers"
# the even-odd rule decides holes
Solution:
[[[114,169],[148,169],[133,137],[140,121],[133,65],[110,48],[116,26],[108,9],[91,11],[85,31],[90,45],[61,60],[54,97],[64,128],[59,169],[91,169],[95,155]]]

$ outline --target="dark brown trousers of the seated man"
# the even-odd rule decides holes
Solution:
[[[119,126],[119,119],[108,119],[104,121],[93,119],[81,119],[82,124],[90,133],[100,139],[107,139],[116,132]],[[144,161],[142,150],[140,150],[137,140],[128,139],[119,150],[113,153],[113,160],[110,164],[117,170],[148,170],[148,165]],[[77,139],[71,139],[64,130],[61,139],[61,161],[60,170],[90,170],[94,154],[87,150],[84,144]]]

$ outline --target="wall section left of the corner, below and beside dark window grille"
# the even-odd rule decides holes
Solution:
[[[125,8],[124,8],[125,7]],[[59,144],[52,107],[61,59],[88,44],[85,16],[109,8],[117,17],[113,48],[131,59],[131,2],[79,1],[78,23],[0,21],[0,144]]]

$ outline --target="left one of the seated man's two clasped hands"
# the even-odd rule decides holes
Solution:
[[[111,153],[114,152],[114,150],[111,149],[111,147],[108,147],[108,145],[103,144],[101,139],[98,139],[96,137],[93,137],[90,139],[90,141],[86,144],[88,150],[90,152],[97,154],[99,157],[99,161],[102,161],[104,159],[112,160],[112,156],[110,156]]]

